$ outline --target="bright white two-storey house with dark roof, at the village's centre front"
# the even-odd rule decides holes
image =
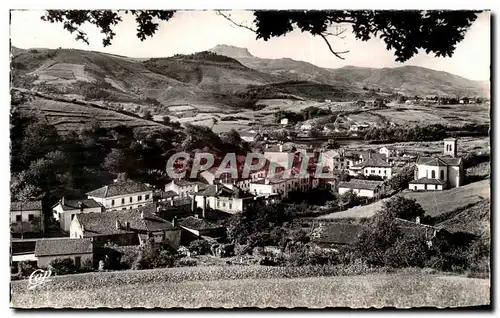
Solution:
[[[193,193],[193,201],[195,213],[204,213],[209,208],[233,214],[242,212],[254,197],[236,186],[214,184]]]

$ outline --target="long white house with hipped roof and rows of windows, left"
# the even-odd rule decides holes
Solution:
[[[87,193],[106,211],[135,209],[153,202],[153,189],[133,180],[119,181]]]

